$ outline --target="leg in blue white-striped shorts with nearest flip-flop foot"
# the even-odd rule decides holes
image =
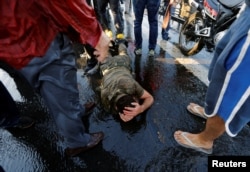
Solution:
[[[233,38],[228,43],[230,51],[225,50],[229,54],[225,59],[218,57],[214,66],[216,72],[208,86],[205,113],[212,117],[207,119],[205,130],[199,134],[188,133],[184,137],[182,131],[176,131],[174,137],[182,146],[189,145],[189,148],[196,150],[197,147],[212,147],[213,141],[225,131],[232,137],[236,136],[250,121],[250,80],[246,72],[250,65],[250,37],[246,35],[239,40],[235,37],[237,41],[232,41]],[[190,143],[195,146],[191,147]]]

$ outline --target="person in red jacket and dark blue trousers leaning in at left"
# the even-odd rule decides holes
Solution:
[[[40,93],[75,156],[95,147],[101,131],[87,133],[80,104],[76,54],[72,42],[95,48],[98,61],[108,55],[110,39],[86,1],[0,1],[0,60],[15,68]]]

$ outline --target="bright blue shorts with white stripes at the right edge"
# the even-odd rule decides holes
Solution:
[[[219,56],[213,66],[214,72],[205,100],[206,114],[220,114],[226,122],[227,134],[232,137],[250,121],[250,80],[247,72],[250,65],[249,41],[249,35],[239,39],[234,33],[231,34],[222,52],[227,55]]]

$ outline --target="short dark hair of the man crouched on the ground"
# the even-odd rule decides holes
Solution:
[[[134,107],[131,103],[136,102],[134,97],[131,95],[124,95],[119,98],[116,102],[117,111],[123,113],[125,107]]]

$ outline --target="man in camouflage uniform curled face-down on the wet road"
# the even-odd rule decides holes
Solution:
[[[100,70],[103,75],[101,103],[107,112],[119,114],[120,118],[127,122],[153,104],[153,96],[133,78],[131,59],[124,44],[119,45],[119,55],[110,56],[100,64]],[[118,110],[118,102],[126,96],[132,97],[134,101]]]

